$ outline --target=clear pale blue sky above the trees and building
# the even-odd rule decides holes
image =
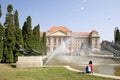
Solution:
[[[7,5],[18,10],[22,28],[31,16],[32,28],[40,24],[40,31],[53,26],[66,26],[73,32],[99,33],[100,41],[114,40],[114,29],[120,29],[120,0],[0,0],[5,22]]]

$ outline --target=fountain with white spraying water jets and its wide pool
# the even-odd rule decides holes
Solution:
[[[103,46],[106,51],[92,52],[89,46],[84,43],[79,50],[71,52],[68,45],[71,45],[73,40],[72,37],[61,42],[57,49],[48,54],[48,59],[44,65],[69,65],[75,69],[85,70],[85,66],[92,60],[96,73],[120,76],[120,60],[118,58],[116,60],[114,56],[119,57],[119,54],[118,51],[114,50],[112,43],[111,46]],[[116,45],[117,48],[120,47],[118,44]]]

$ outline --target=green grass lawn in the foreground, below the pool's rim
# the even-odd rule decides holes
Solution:
[[[78,74],[63,67],[17,69],[0,64],[0,80],[116,80],[87,74]]]

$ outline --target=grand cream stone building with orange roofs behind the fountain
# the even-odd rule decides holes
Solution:
[[[83,45],[88,45],[90,49],[99,49],[99,34],[96,30],[91,32],[73,32],[65,26],[53,26],[47,32],[48,51],[54,51],[64,41],[71,37],[72,42],[65,44],[70,52],[79,50]]]

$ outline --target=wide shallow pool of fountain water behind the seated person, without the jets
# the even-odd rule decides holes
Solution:
[[[69,65],[74,69],[85,71],[90,60],[93,61],[95,73],[120,76],[120,60],[114,60],[111,55],[54,56],[46,65]]]

